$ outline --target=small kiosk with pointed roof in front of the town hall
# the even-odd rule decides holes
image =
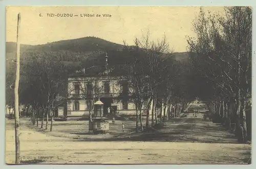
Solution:
[[[94,134],[104,134],[109,131],[109,119],[103,116],[103,105],[100,100],[94,103],[94,117],[89,122],[89,131]]]

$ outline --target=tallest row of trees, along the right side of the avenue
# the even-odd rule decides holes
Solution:
[[[226,7],[224,16],[201,8],[188,38],[199,97],[209,102],[214,121],[234,128],[240,141],[250,139],[252,11]],[[248,131],[249,129],[249,131]],[[249,134],[249,135],[248,135]]]

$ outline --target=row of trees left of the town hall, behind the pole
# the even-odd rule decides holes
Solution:
[[[32,123],[37,127],[39,117],[41,118],[40,127],[48,129],[49,116],[51,116],[50,130],[52,131],[54,110],[58,105],[67,102],[68,75],[77,67],[59,61],[60,58],[51,52],[23,53],[23,55],[26,54],[30,55],[30,59],[21,62],[19,104],[30,108]],[[7,70],[6,103],[12,107],[14,97],[13,90],[9,86],[13,84],[13,78],[13,69]],[[45,126],[43,117],[47,118]]]

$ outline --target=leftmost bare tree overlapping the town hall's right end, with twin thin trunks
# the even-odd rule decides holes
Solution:
[[[125,61],[125,66],[122,67],[125,82],[121,81],[120,89],[122,90],[120,93],[120,97],[125,102],[130,102],[135,105],[136,108],[136,132],[138,132],[139,128],[139,116],[140,116],[140,124],[141,130],[143,130],[142,125],[142,106],[147,98],[147,82],[149,80],[148,76],[144,74],[144,63],[145,63],[145,53],[139,49],[138,46],[124,47],[124,54],[129,56],[129,60]],[[125,88],[124,86],[125,83]]]

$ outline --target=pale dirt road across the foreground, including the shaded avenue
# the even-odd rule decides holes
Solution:
[[[10,121],[7,120],[7,125]],[[250,147],[238,144],[222,127],[187,114],[156,133],[120,141],[54,137],[22,126],[23,163],[247,163]],[[142,140],[142,141],[141,141]],[[144,141],[143,141],[144,140]],[[14,130],[6,131],[6,162],[15,160]]]

